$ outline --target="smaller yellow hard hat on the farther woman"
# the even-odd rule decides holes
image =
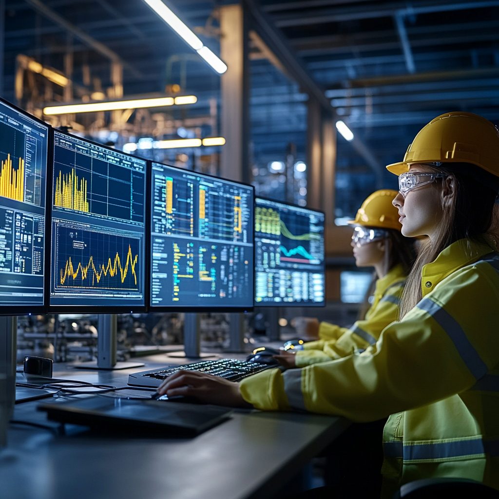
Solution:
[[[392,189],[373,192],[362,203],[355,220],[350,220],[348,223],[401,231],[402,224],[399,222],[399,212],[392,205],[397,194],[398,192]]]

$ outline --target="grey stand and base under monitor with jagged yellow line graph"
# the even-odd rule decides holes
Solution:
[[[77,369],[105,371],[144,366],[143,362],[116,362],[117,330],[116,314],[99,314],[97,323],[97,362],[81,362],[71,365]]]

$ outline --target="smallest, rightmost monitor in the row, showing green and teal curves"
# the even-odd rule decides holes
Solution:
[[[324,306],[324,213],[256,198],[255,306]]]

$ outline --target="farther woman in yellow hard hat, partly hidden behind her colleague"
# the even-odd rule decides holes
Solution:
[[[359,208],[352,236],[353,254],[358,267],[375,268],[375,289],[368,291],[371,306],[352,327],[321,322],[318,341],[302,345],[291,342],[275,358],[285,367],[304,367],[317,362],[346,357],[373,345],[381,331],[399,317],[398,304],[407,274],[413,264],[413,240],[401,234],[397,209],[392,201],[397,191],[382,189],[371,194]],[[372,294],[372,296],[371,296]]]

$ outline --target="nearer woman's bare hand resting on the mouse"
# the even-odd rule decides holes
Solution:
[[[241,396],[238,383],[198,371],[185,371],[183,369],[177,371],[163,381],[158,388],[158,393],[160,395],[166,393],[169,397],[178,395],[196,397],[206,404],[253,407]]]

